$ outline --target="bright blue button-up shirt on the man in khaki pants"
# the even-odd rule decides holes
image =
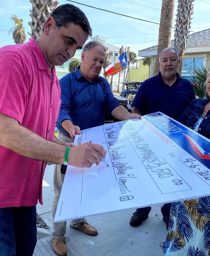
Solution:
[[[68,133],[61,124],[69,119],[81,130],[104,124],[105,109],[109,115],[120,106],[114,98],[107,80],[98,76],[91,82],[82,76],[79,68],[59,81],[61,106],[56,127]]]

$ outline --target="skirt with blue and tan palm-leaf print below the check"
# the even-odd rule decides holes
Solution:
[[[210,196],[171,204],[164,255],[210,256]]]

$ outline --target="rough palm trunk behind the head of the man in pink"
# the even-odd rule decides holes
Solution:
[[[37,39],[42,33],[47,18],[50,17],[59,3],[57,0],[30,0],[30,3],[32,4],[32,10],[30,10],[32,21],[28,24],[32,33],[28,34],[31,38]]]

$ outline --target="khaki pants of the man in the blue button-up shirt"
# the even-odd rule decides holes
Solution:
[[[73,140],[70,137],[59,133],[59,131],[58,131],[57,138],[63,144],[73,142]],[[63,185],[64,176],[65,176],[61,173],[60,168],[61,168],[61,164],[55,164],[54,179],[53,179],[53,185],[54,185],[53,219],[55,217],[56,208],[57,208],[58,200],[60,196],[60,191]],[[71,225],[74,227],[78,227],[82,222],[84,222],[84,218],[74,219],[74,220],[71,220]],[[53,231],[51,234],[53,238],[64,237],[65,233],[66,233],[66,221],[53,223]]]

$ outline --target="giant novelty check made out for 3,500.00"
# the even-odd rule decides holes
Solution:
[[[82,130],[108,167],[67,167],[54,221],[210,195],[210,140],[158,112]],[[78,156],[80,157],[80,156]]]

